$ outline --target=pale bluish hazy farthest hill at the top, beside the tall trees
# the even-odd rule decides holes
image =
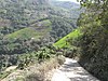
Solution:
[[[52,1],[52,5],[69,10],[68,13],[70,14],[68,16],[71,16],[72,23],[75,25],[77,23],[77,18],[79,17],[80,13],[83,11],[83,9],[80,10],[80,4],[70,1]]]

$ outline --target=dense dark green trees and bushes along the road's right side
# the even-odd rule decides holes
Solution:
[[[86,70],[102,81],[108,81],[108,0],[81,0],[81,4],[85,6],[78,21],[82,35],[75,40],[71,37],[68,44],[77,48],[79,63]],[[64,39],[55,45],[62,46],[60,42],[66,42]]]

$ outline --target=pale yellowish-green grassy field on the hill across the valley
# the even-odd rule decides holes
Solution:
[[[43,28],[41,30],[37,30],[35,28],[24,28],[21,30],[17,30],[13,33],[6,35],[5,38],[9,38],[11,41],[14,39],[21,38],[21,39],[38,39],[46,35],[49,32],[50,28]]]

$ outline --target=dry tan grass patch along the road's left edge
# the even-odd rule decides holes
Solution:
[[[63,56],[51,58],[40,64],[40,66],[35,69],[33,72],[25,78],[25,81],[48,81],[45,80],[48,72],[52,69],[59,67],[62,64],[64,64],[64,62],[65,58]]]

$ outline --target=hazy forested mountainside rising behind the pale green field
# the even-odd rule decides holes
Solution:
[[[66,33],[62,35],[60,37],[67,35],[68,32],[71,31],[73,27],[76,27],[76,22],[72,21],[75,16],[71,15],[71,12],[69,12],[69,9],[65,9],[64,6],[56,6],[56,4],[52,5],[52,3],[48,0],[30,0],[30,1],[29,0],[23,0],[23,1],[1,0],[0,3],[1,3],[0,5],[1,19],[10,21],[10,25],[5,26],[6,30],[11,29],[9,33],[23,29],[25,27],[30,27],[32,26],[32,24],[36,24],[43,19],[49,19],[51,22],[54,19],[60,19],[60,21],[64,19],[65,23],[69,24],[71,27],[70,26],[69,28],[67,27],[68,30],[65,30],[64,28],[62,28],[64,31],[66,31]],[[77,14],[79,15],[79,13]],[[52,22],[53,27],[54,25],[56,26],[56,23]],[[6,31],[6,35],[8,35],[8,31]],[[56,35],[52,33],[51,36],[58,37],[57,33]]]

